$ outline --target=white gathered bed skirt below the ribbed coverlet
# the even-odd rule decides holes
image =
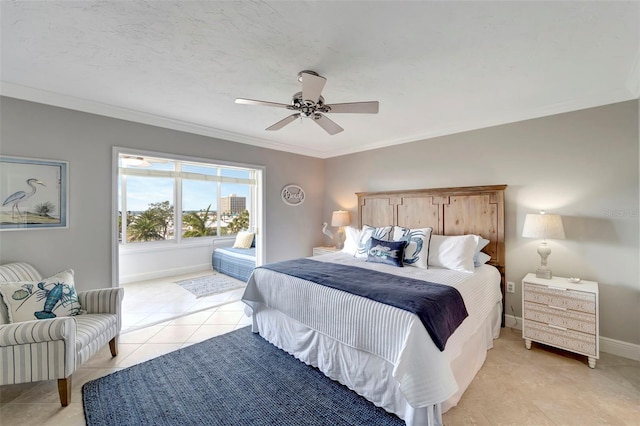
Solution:
[[[464,343],[460,354],[451,360],[458,391],[446,401],[428,407],[412,407],[407,402],[393,378],[394,366],[388,361],[347,346],[263,304],[254,307],[252,331],[376,406],[396,414],[408,426],[432,426],[442,424],[442,413],[460,401],[482,367],[493,339],[500,334],[501,314],[502,307],[497,304],[478,332]],[[363,374],[364,371],[367,373]]]

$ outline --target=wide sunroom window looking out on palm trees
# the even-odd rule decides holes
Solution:
[[[118,154],[120,244],[180,243],[255,228],[259,172],[246,167]]]

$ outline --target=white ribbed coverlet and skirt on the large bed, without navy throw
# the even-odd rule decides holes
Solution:
[[[329,377],[338,378],[343,383],[349,382],[344,384],[405,420],[408,414],[398,406],[402,405],[396,401],[399,398],[405,399],[414,408],[440,404],[454,395],[458,395],[459,399],[461,387],[464,390],[468,383],[458,383],[460,380],[456,380],[452,363],[459,359],[465,344],[483,327],[487,327],[487,320],[495,317],[496,305],[502,300],[500,274],[496,268],[483,265],[476,268],[474,273],[437,268],[397,268],[368,263],[344,253],[316,256],[313,260],[353,264],[450,285],[462,295],[469,316],[441,352],[419,318],[408,311],[258,268],[249,279],[243,296],[243,301],[259,317],[258,320],[254,319],[254,332],[260,332],[276,346],[319,367]],[[303,328],[299,328],[298,324]],[[367,367],[354,369],[353,365],[336,366],[335,360],[316,359],[318,354],[309,350],[312,346],[297,341],[308,334],[304,330],[315,332],[308,336],[309,345],[333,348],[335,342],[339,345],[334,348],[336,351],[344,347],[345,353],[341,356],[347,359],[347,363],[353,361],[354,354],[358,354],[362,355],[362,362],[366,362]],[[293,339],[293,336],[296,338]],[[349,351],[349,348],[357,352]],[[367,354],[372,356],[368,357]],[[336,359],[340,360],[341,356]],[[340,361],[345,363],[345,359]],[[484,355],[480,365],[482,361]],[[394,385],[401,395],[383,389],[382,378],[370,379],[376,376],[376,370],[380,370],[380,363],[388,365],[392,377],[389,380],[396,382]],[[350,372],[346,371],[349,369]],[[362,377],[351,377],[354,375]],[[376,384],[380,380],[383,385]]]

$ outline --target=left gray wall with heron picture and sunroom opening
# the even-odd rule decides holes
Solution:
[[[43,274],[76,271],[80,290],[111,285],[112,147],[263,165],[267,262],[310,256],[321,240],[323,160],[1,97],[0,154],[69,162],[68,229],[0,233],[0,263],[27,260]],[[287,206],[280,190],[306,191]],[[309,232],[312,231],[312,232]]]

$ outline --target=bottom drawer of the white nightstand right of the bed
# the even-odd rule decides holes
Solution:
[[[523,337],[584,355],[597,356],[596,336],[592,334],[527,321],[524,325]]]

